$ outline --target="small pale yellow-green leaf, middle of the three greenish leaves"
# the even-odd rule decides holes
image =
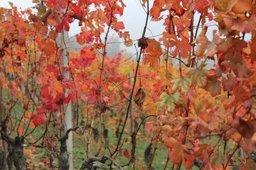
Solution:
[[[173,79],[171,82],[173,83],[173,91],[176,91],[177,89],[181,88],[181,91],[183,93],[188,92],[189,87],[191,85],[191,80],[189,78],[186,78],[185,76],[182,78]]]

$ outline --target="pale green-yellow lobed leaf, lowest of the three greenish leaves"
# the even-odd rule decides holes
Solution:
[[[159,97],[159,102],[157,106],[159,108],[167,108],[168,111],[173,111],[175,109],[175,104],[183,104],[184,100],[180,97],[179,92],[169,95],[166,92],[163,92]]]

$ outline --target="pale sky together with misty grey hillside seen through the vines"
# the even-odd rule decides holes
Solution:
[[[18,8],[24,10],[26,8],[32,8],[35,6],[34,3],[32,3],[32,0],[1,0],[0,6],[4,8],[10,8],[10,4],[8,2],[12,2],[14,6],[17,6]],[[134,43],[137,43],[137,39],[141,38],[141,34],[143,31],[143,27],[145,25],[145,19],[146,19],[146,9],[143,9],[143,6],[141,6],[141,0],[123,0],[126,7],[124,8],[124,15],[119,18],[119,20],[124,22],[125,25],[125,31],[129,31],[131,39],[134,40]],[[150,8],[152,7],[154,1],[150,1]],[[162,13],[162,15],[165,15],[166,13]],[[195,19],[194,22],[197,24],[198,20],[200,18],[200,15],[196,12],[195,13]],[[147,31],[145,36],[146,37],[152,37],[154,36],[155,39],[159,39],[161,37],[161,34],[164,31],[163,26],[164,20],[160,20],[158,22],[153,22],[150,19],[148,20],[147,25]],[[215,21],[206,22],[206,25],[209,25],[208,31],[207,31],[207,37],[212,40],[212,30],[217,29],[218,25]],[[199,28],[198,32],[202,30],[202,26]],[[195,31],[195,30],[194,30]],[[69,31],[69,37],[70,37],[70,43],[69,47],[72,50],[80,50],[83,48],[83,46],[79,45],[76,41],[76,34],[79,34],[81,32],[81,29],[78,25],[78,20],[74,20],[72,24],[70,24],[70,31]],[[115,33],[115,31],[109,32],[109,38],[108,42],[111,42],[107,47],[107,53],[109,57],[114,57],[118,52],[123,50],[123,56],[129,56],[136,54],[136,48],[133,46],[125,46],[123,43],[123,39],[118,38],[118,35]],[[135,59],[136,57],[132,57]],[[176,64],[177,60],[173,60],[173,64]],[[210,64],[212,65],[212,64]]]

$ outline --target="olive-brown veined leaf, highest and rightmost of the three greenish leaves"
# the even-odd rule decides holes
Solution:
[[[198,87],[204,87],[207,83],[208,72],[203,69],[204,65],[201,65],[197,69],[189,71],[188,75],[191,78],[192,85],[198,85]]]

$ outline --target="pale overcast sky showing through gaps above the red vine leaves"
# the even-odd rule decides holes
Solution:
[[[18,6],[19,8],[25,9],[25,8],[31,8],[32,6],[35,6],[35,4],[32,3],[32,0],[0,0],[0,6],[3,6],[5,8],[10,8],[10,5],[8,4],[8,1],[12,2],[14,6]],[[146,13],[141,7],[140,0],[123,0],[126,4],[126,8],[124,9],[124,15],[120,17],[120,20],[122,20],[125,24],[125,31],[129,31],[131,35],[131,39],[139,39],[141,37],[143,27],[145,25],[145,18]],[[153,0],[150,1],[150,8],[153,4]],[[195,23],[197,23],[199,19],[198,13],[195,14]],[[207,36],[211,39],[212,38],[212,29],[214,29],[214,26],[209,27]],[[215,27],[216,29],[216,27]],[[163,27],[163,20],[160,22],[152,22],[151,20],[148,20],[148,29],[146,31],[146,36],[156,36],[159,34],[162,34],[164,31]],[[70,31],[69,35],[74,36],[80,32],[80,28],[78,26],[78,21],[75,20],[74,23],[70,24]],[[111,32],[109,34],[109,41],[122,41],[122,39],[117,39],[117,35],[114,34],[114,32]],[[159,37],[156,37],[158,39]],[[129,53],[135,53],[136,49],[134,46],[131,47],[125,47],[122,45],[122,43],[116,43],[112,44],[116,46],[116,48],[124,49],[126,52]]]

